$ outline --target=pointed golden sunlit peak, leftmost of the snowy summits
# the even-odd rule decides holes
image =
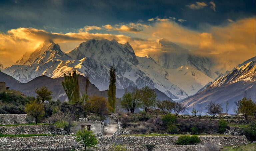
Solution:
[[[30,65],[33,63],[39,63],[41,60],[49,60],[56,57],[65,55],[58,44],[55,44],[52,40],[44,41],[35,51],[31,54],[25,53],[21,59],[19,59],[17,65]]]

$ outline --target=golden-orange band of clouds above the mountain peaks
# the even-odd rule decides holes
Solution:
[[[61,49],[68,52],[80,42],[88,39],[116,39],[120,43],[129,42],[137,56],[160,53],[157,41],[166,38],[194,53],[201,55],[220,55],[226,60],[241,63],[255,56],[255,18],[228,22],[222,26],[207,26],[204,32],[191,30],[175,19],[153,18],[152,24],[129,23],[127,25],[85,26],[77,32],[51,33],[35,28],[17,28],[0,33],[0,60],[4,66],[16,62],[25,52],[36,49],[44,40],[51,39],[59,43]],[[179,21],[179,20],[177,20]],[[181,20],[179,22],[182,22]],[[106,33],[91,33],[90,31]],[[113,33],[117,31],[117,34]],[[108,33],[109,32],[109,33]],[[120,34],[118,34],[120,32]],[[221,59],[221,58],[220,58]],[[235,65],[236,65],[235,64]]]

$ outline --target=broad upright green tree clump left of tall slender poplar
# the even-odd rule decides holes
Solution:
[[[74,70],[72,74],[65,74],[64,81],[61,82],[70,103],[77,103],[80,100],[78,78],[79,74]]]

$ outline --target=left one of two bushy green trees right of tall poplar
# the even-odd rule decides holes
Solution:
[[[123,97],[121,98],[121,107],[127,109],[127,111],[134,111],[140,107],[140,92],[139,89],[133,88],[131,92],[126,91]]]

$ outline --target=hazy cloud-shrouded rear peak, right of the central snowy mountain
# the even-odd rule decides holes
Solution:
[[[210,58],[194,55],[189,50],[184,49],[167,39],[160,39],[158,43],[160,45],[161,53],[157,52],[150,56],[166,69],[177,69],[181,66],[190,66],[212,79],[218,77],[218,75],[212,71],[214,68]]]

